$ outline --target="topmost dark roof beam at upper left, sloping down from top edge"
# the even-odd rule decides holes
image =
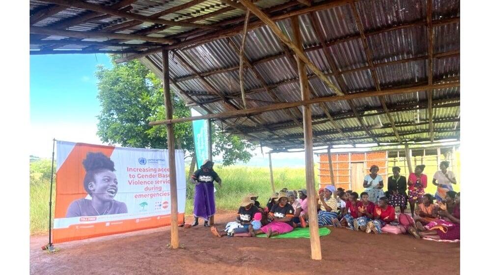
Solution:
[[[91,11],[97,11],[97,12],[101,12],[101,13],[111,14],[114,16],[119,16],[122,18],[138,20],[138,21],[142,21],[142,22],[151,22],[151,23],[155,23],[155,24],[179,26],[179,27],[196,27],[196,28],[206,28],[206,29],[217,29],[216,27],[210,27],[210,26],[202,25],[202,24],[194,24],[194,23],[186,23],[186,22],[179,22],[179,21],[150,18],[147,16],[138,15],[136,13],[122,12],[122,11],[118,11],[118,10],[110,8],[110,7],[105,7],[102,5],[92,4],[92,3],[83,2],[83,1],[79,1],[79,0],[40,0],[40,1],[58,4],[58,5],[63,5],[66,7],[76,7],[76,8],[81,8],[81,9],[86,9],[86,10],[91,10]]]

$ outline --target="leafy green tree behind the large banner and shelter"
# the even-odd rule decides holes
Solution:
[[[101,104],[97,135],[109,144],[166,149],[166,127],[148,125],[165,118],[162,81],[138,60],[117,64],[114,61],[117,57],[111,56],[112,68],[99,66],[96,72]],[[172,90],[171,96],[173,117],[191,116],[190,109]],[[191,122],[174,124],[174,134],[176,148],[194,151]],[[214,155],[223,156],[223,165],[247,162],[252,157],[250,151],[257,146],[239,136],[225,134],[218,127],[213,139]]]

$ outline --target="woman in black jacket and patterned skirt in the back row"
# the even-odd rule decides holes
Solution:
[[[406,177],[401,176],[400,172],[400,167],[392,167],[393,175],[387,180],[387,197],[389,198],[389,204],[393,207],[399,206],[401,213],[404,214],[404,210],[406,210],[408,205],[408,195],[406,194],[408,185]]]

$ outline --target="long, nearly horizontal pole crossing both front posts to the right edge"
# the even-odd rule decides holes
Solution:
[[[412,92],[425,90],[428,88],[440,89],[440,88],[450,88],[450,87],[458,87],[458,86],[460,86],[460,83],[441,83],[441,84],[433,84],[431,87],[429,87],[429,85],[418,85],[418,86],[407,87],[407,88],[386,89],[386,90],[382,90],[382,91],[370,91],[370,92],[347,94],[344,96],[318,97],[318,98],[313,98],[313,99],[309,99],[309,100],[277,103],[277,104],[272,104],[269,106],[261,106],[261,107],[257,107],[257,108],[247,109],[247,110],[235,110],[235,111],[213,113],[213,114],[207,114],[207,115],[201,115],[201,116],[181,117],[181,118],[170,119],[170,120],[152,121],[152,122],[150,122],[150,125],[163,125],[163,124],[168,124],[168,123],[178,123],[178,122],[186,122],[186,121],[193,121],[193,120],[198,120],[198,119],[209,119],[209,118],[213,118],[213,119],[215,119],[215,118],[228,118],[228,117],[242,116],[242,115],[247,115],[247,114],[257,114],[257,113],[263,113],[263,112],[268,112],[268,111],[281,110],[281,109],[285,109],[285,108],[293,108],[293,107],[297,107],[297,106],[301,106],[301,105],[318,104],[318,103],[322,103],[322,102],[334,102],[334,101],[340,101],[340,100],[351,100],[351,99],[356,99],[356,98],[364,98],[364,97],[372,97],[372,96],[380,96],[380,95],[412,93]]]

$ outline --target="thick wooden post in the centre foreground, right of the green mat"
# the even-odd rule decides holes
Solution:
[[[293,35],[295,38],[295,44],[298,48],[303,49],[298,16],[292,17]],[[300,79],[300,91],[302,93],[302,100],[310,99],[310,91],[308,89],[307,72],[305,70],[305,63],[297,58],[297,66],[299,70]],[[310,231],[310,253],[313,260],[322,260],[321,253],[321,239],[319,237],[319,221],[317,220],[317,201],[315,199],[317,192],[315,192],[315,180],[314,180],[314,148],[312,143],[312,110],[310,105],[302,106],[303,110],[303,139],[305,147],[305,180],[307,184],[307,204],[308,204],[308,217],[309,217],[309,231]]]

